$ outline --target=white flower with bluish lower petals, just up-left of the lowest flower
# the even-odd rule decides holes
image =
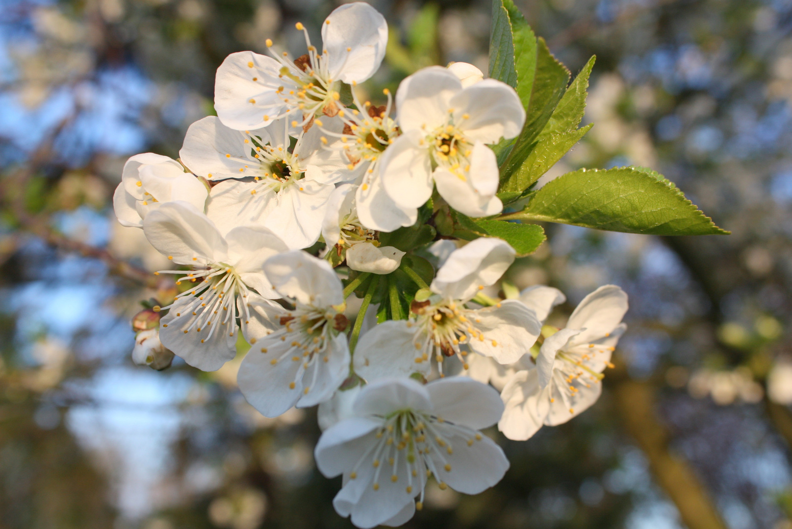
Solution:
[[[257,338],[237,380],[254,408],[277,417],[326,401],[341,386],[349,373],[347,319],[341,280],[326,261],[295,250],[272,257],[264,270],[295,308],[270,311],[276,330]]]

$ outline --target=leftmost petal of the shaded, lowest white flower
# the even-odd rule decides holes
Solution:
[[[376,442],[373,433],[375,429],[382,427],[382,424],[382,421],[371,418],[353,417],[331,426],[322,433],[314,449],[316,466],[322,475],[326,478],[334,478],[345,470],[355,467],[367,445]]]

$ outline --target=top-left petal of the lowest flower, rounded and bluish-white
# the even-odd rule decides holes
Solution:
[[[395,410],[410,408],[431,412],[432,400],[426,387],[409,378],[375,380],[360,391],[360,396],[352,406],[358,416],[383,416]]]

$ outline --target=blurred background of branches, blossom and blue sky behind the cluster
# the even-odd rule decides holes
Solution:
[[[486,71],[489,0],[374,0],[380,94],[419,67]],[[547,225],[509,271],[563,322],[606,283],[630,329],[600,402],[524,443],[476,497],[429,486],[406,527],[792,529],[792,2],[518,0],[577,73],[596,125],[552,171],[664,173],[731,236]],[[112,191],[177,157],[215,69],[267,38],[295,55],[328,0],[0,0],[0,527],[351,527],[314,467],[315,410],[262,418],[235,365],[131,363],[130,318],[172,285]],[[551,321],[550,323],[553,323]]]

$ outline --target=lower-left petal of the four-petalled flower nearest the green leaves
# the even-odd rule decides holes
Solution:
[[[432,159],[417,139],[417,134],[402,134],[379,159],[385,192],[401,208],[423,206],[432,196]]]

